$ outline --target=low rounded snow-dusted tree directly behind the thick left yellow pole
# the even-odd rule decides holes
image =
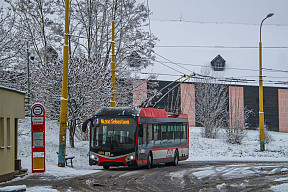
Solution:
[[[42,70],[46,74],[39,80],[38,92],[44,105],[48,107],[47,115],[59,119],[62,63],[48,63]],[[83,119],[92,116],[97,109],[107,106],[110,100],[110,74],[93,59],[72,58],[68,74],[68,130],[70,146],[74,147],[76,128]]]

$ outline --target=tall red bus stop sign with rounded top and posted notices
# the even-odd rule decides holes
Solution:
[[[32,173],[45,172],[45,109],[40,103],[31,107]]]

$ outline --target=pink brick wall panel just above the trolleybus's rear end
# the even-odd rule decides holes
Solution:
[[[195,126],[195,85],[184,84],[180,85],[181,90],[181,111],[188,115],[189,125]]]

